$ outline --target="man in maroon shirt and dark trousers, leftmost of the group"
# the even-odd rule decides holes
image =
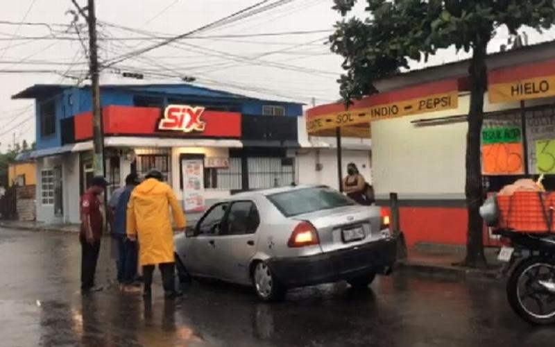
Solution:
[[[103,229],[103,217],[99,195],[104,192],[108,182],[101,177],[92,178],[91,187],[81,196],[80,214],[81,230],[81,290],[96,291],[94,273],[99,259],[100,241]]]

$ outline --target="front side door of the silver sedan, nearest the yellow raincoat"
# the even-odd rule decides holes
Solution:
[[[195,236],[191,237],[185,254],[185,266],[193,276],[217,278],[218,244],[216,239],[221,232],[221,226],[229,203],[219,203],[198,221]]]

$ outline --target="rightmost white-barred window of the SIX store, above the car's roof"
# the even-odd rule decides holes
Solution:
[[[293,158],[248,158],[249,189],[284,187],[295,183]]]

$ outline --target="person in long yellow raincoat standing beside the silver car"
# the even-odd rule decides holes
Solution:
[[[174,282],[175,258],[173,248],[173,221],[180,229],[187,221],[176,195],[163,182],[162,173],[151,170],[143,183],[133,189],[127,205],[127,236],[139,239],[139,262],[143,267],[144,296],[152,294],[152,276],[158,265],[162,273],[164,292],[167,298],[175,298],[181,293]]]

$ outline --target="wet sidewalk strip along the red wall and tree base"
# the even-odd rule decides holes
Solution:
[[[454,264],[464,260],[464,246],[418,244],[409,248],[406,260],[396,264],[398,271],[457,276],[460,278],[497,278],[502,263],[497,260],[497,248],[486,248],[488,269],[468,269]]]

